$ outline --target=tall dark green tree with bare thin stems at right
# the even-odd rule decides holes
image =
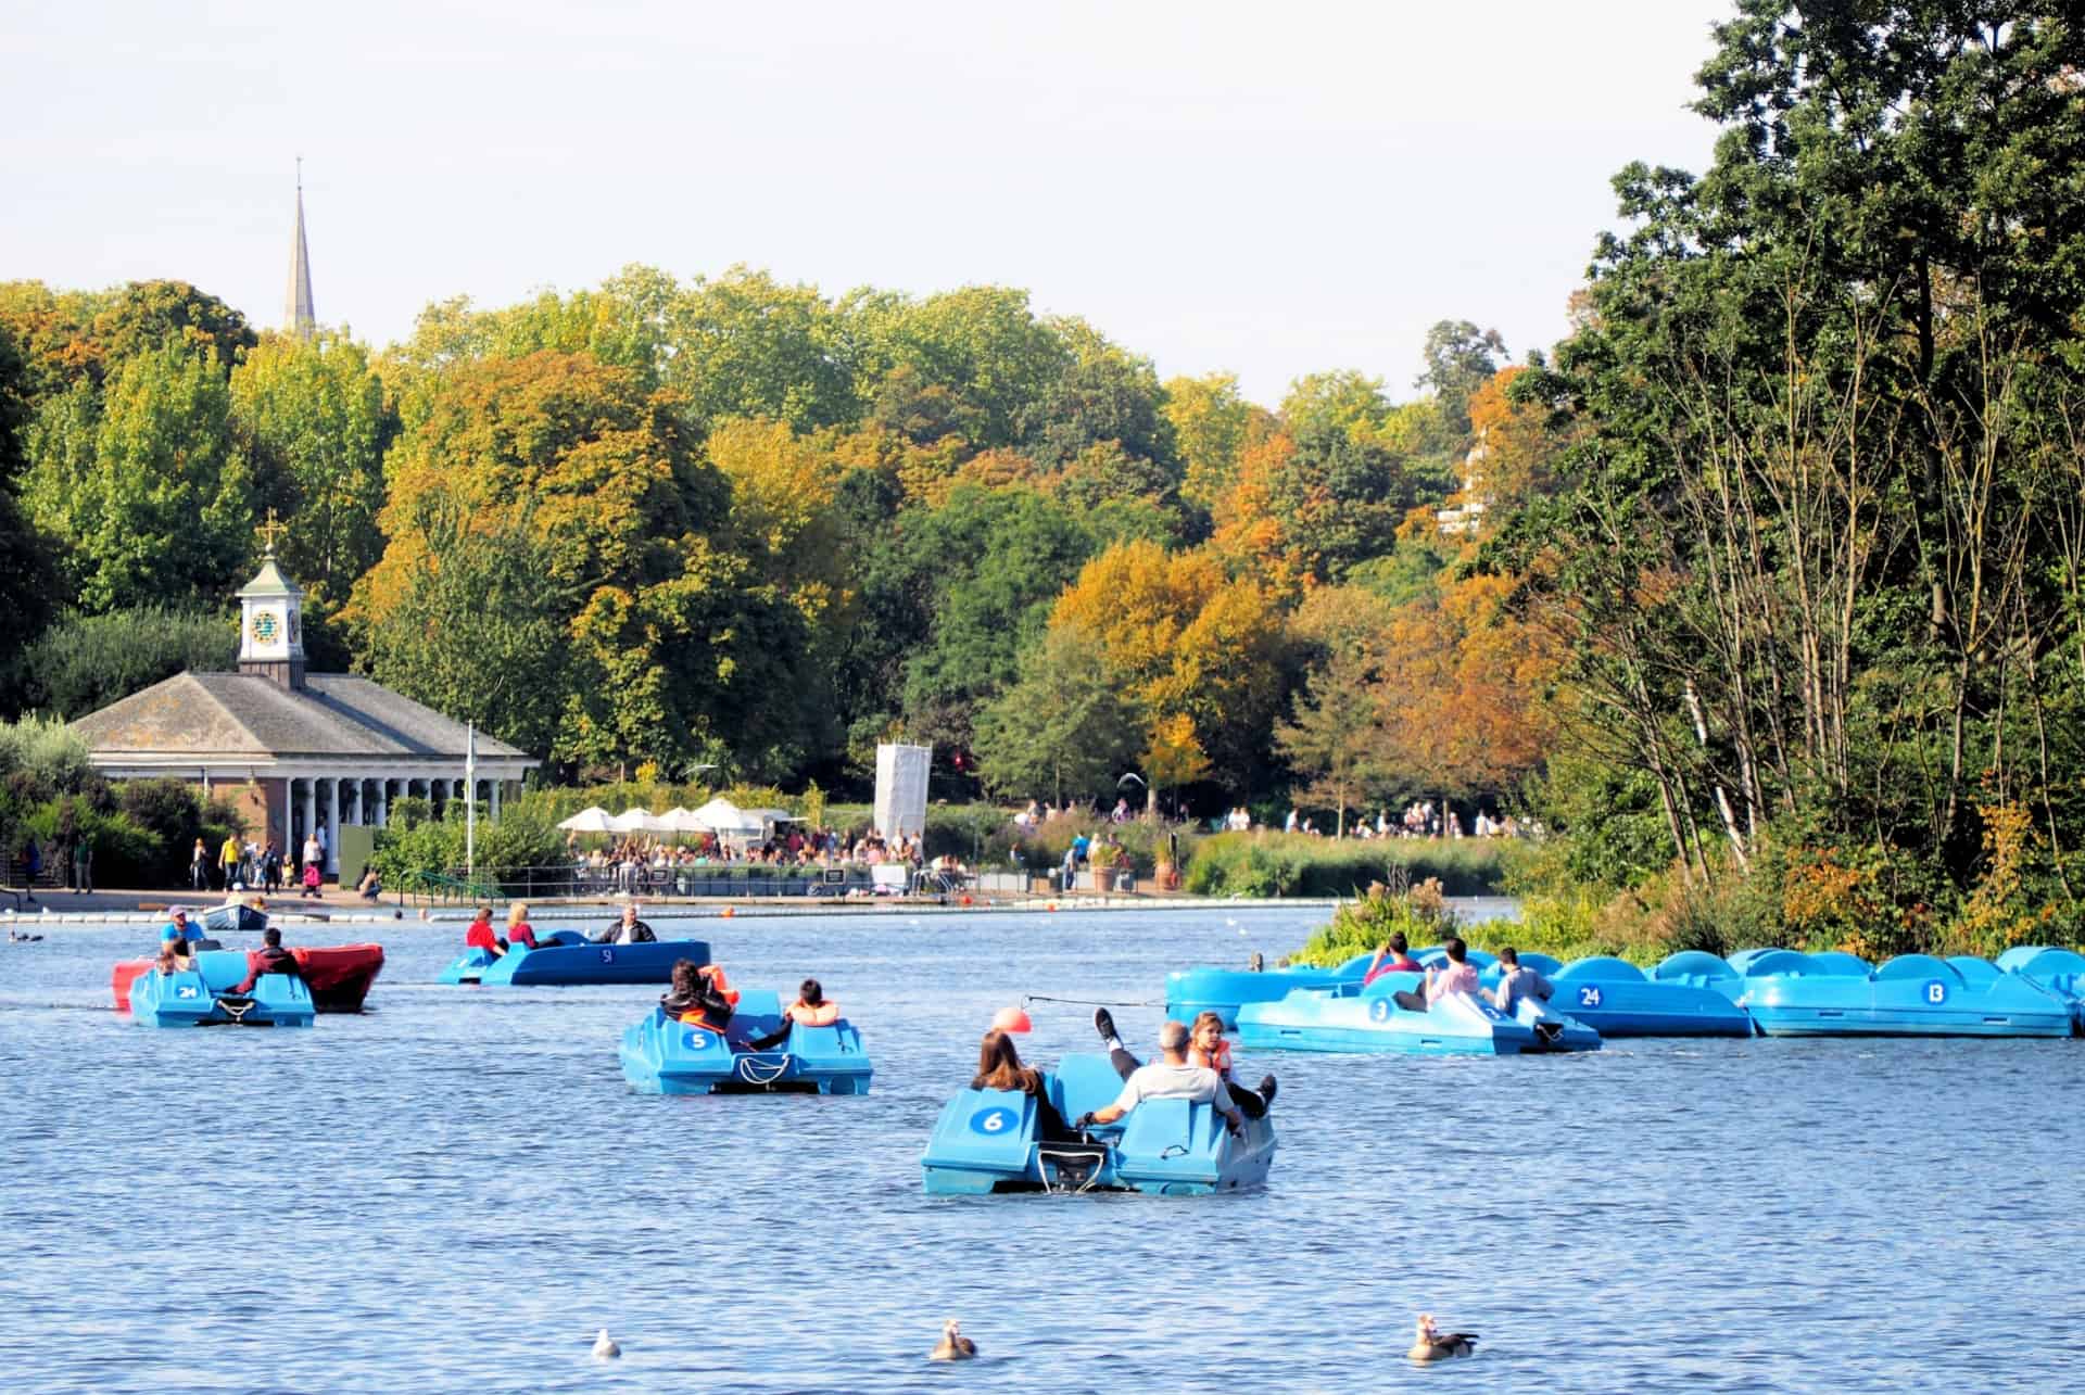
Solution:
[[[1514,384],[1568,484],[1493,561],[1695,878],[1779,824],[1960,886],[1979,786],[2085,836],[2081,69],[2050,4],[1741,0],[1714,165],[1618,175],[1580,329]]]

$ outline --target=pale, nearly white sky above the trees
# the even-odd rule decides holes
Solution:
[[[1026,286],[1274,402],[1409,396],[1437,319],[1520,357],[1726,0],[31,4],[0,13],[0,279],[183,277],[281,323],[304,154],[319,319],[377,344],[626,263]]]

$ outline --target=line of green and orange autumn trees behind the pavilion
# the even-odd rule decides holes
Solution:
[[[1468,619],[1432,511],[1505,411],[1503,344],[1464,321],[1405,402],[1339,371],[1270,411],[1020,290],[828,298],[742,267],[442,302],[384,350],[177,282],[17,282],[0,354],[17,709],[227,663],[273,509],[315,665],[567,776],[859,788],[901,738],[951,788],[1057,801],[1126,772],[1278,797],[1318,759],[1278,728],[1334,651],[1414,607]]]

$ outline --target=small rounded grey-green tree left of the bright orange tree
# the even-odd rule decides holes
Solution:
[[[1143,711],[1099,640],[1053,628],[1022,659],[1022,676],[978,713],[984,784],[1001,794],[1095,794],[1115,786],[1143,740]]]

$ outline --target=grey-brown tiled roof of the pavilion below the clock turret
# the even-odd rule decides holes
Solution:
[[[357,674],[175,674],[73,724],[96,755],[463,759],[465,726]],[[480,757],[521,757],[477,734]]]

